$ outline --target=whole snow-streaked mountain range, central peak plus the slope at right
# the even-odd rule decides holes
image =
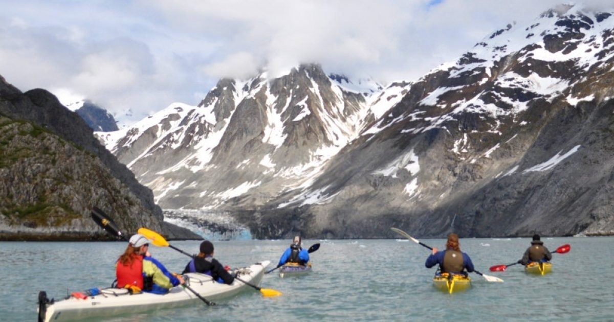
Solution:
[[[221,80],[107,147],[162,207],[258,238],[612,233],[613,46],[612,12],[560,6],[383,90],[316,65]]]

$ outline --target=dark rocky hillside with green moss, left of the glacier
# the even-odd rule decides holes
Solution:
[[[142,226],[166,234],[151,190],[99,144],[79,115],[48,91],[22,94],[0,80],[0,238],[107,239],[90,218],[94,205],[128,234]]]

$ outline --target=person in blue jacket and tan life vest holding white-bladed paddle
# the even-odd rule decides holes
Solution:
[[[442,273],[467,275],[467,272],[473,272],[471,258],[466,253],[462,253],[459,236],[454,232],[448,234],[445,251],[433,248],[431,255],[426,259],[425,265],[427,268],[433,267],[435,264],[439,264]],[[467,272],[464,271],[465,269]]]

